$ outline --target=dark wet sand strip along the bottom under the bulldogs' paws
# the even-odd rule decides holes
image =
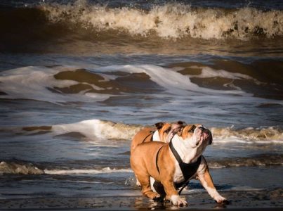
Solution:
[[[187,207],[174,207],[169,202],[157,203],[143,196],[118,196],[97,198],[45,198],[1,199],[0,210],[283,210],[283,191],[223,191],[228,205],[218,205],[207,193],[182,195]]]

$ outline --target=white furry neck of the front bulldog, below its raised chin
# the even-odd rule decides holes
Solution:
[[[199,158],[199,156],[202,155],[203,150],[199,151],[199,148],[197,147],[192,148],[192,146],[187,144],[187,141],[190,140],[184,140],[182,137],[178,136],[177,134],[173,136],[171,141],[178,155],[185,163],[196,162],[197,158]]]

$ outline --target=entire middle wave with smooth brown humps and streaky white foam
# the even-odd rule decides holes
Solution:
[[[1,72],[0,98],[32,99],[50,103],[93,102],[105,101],[112,96],[160,94],[164,91],[178,96],[254,94],[263,98],[282,98],[279,91],[282,87],[277,82],[277,74],[270,75],[270,82],[267,83],[261,82],[266,78],[265,72],[259,75],[255,68],[249,71],[252,75],[246,75],[240,70],[231,72],[206,65],[187,65],[186,68],[176,64],[173,68],[157,65],[79,68],[65,65],[11,69]],[[244,68],[250,67],[244,65]],[[193,74],[194,70],[198,74]]]

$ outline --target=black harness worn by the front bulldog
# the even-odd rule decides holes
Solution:
[[[163,147],[163,146],[162,146],[162,147]],[[162,147],[161,147],[161,148],[162,148]],[[171,149],[171,151],[172,151],[174,157],[175,157],[176,160],[178,161],[179,166],[180,166],[180,170],[181,170],[181,172],[182,172],[182,174],[183,174],[183,177],[184,177],[184,181],[182,181],[182,182],[180,182],[180,183],[178,183],[178,184],[174,184],[174,185],[176,186],[176,188],[180,188],[180,187],[181,187],[181,188],[180,188],[180,191],[178,192],[179,195],[180,195],[180,193],[183,191],[183,188],[185,188],[185,186],[187,186],[187,184],[189,184],[190,178],[191,178],[192,176],[194,176],[194,174],[197,172],[197,169],[199,168],[199,165],[200,165],[200,163],[201,163],[201,161],[202,161],[202,155],[199,156],[199,158],[197,158],[197,161],[196,161],[196,162],[185,163],[185,162],[183,162],[183,160],[180,158],[180,155],[178,154],[178,152],[176,151],[176,149],[173,147],[172,141],[170,141],[169,147],[170,147],[170,149]],[[159,151],[161,150],[161,148],[159,148]],[[156,160],[155,160],[155,162],[156,162],[156,167],[157,167],[157,171],[158,171],[158,172],[159,172],[159,167],[158,167],[157,162],[158,162],[159,151],[157,151]],[[159,174],[160,174],[160,172],[159,172]],[[156,184],[155,184],[155,183],[156,183]],[[161,182],[159,182],[159,181],[154,181],[153,186],[154,186],[154,188],[155,188],[156,191],[157,191],[157,189],[158,189],[158,190],[162,191],[163,193],[165,193],[164,188],[163,188],[163,190],[161,190],[161,189],[162,189],[161,186],[163,187],[163,185],[162,185]],[[158,192],[159,192],[159,191],[158,191]]]

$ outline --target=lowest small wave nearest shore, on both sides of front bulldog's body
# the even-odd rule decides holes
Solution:
[[[226,167],[265,167],[272,165],[283,165],[283,155],[255,155],[247,158],[221,158],[221,160],[208,159],[209,167],[211,168],[226,168]],[[87,163],[87,161],[86,161]],[[81,163],[82,164],[82,163]],[[54,168],[52,166],[48,169],[44,167],[37,167],[30,162],[0,162],[0,175],[1,174],[52,174],[52,175],[75,175],[75,174],[117,174],[117,173],[132,173],[131,168]]]

